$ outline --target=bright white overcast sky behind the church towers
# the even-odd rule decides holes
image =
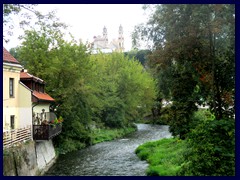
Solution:
[[[93,36],[102,36],[104,26],[107,28],[109,41],[118,38],[121,24],[126,51],[132,47],[131,32],[134,26],[147,20],[141,4],[39,4],[37,9],[43,13],[56,9],[56,16],[60,21],[70,26],[69,32],[76,40],[82,39],[83,42],[93,41]],[[20,45],[17,39],[20,34],[23,34],[22,30],[16,28],[14,36],[9,38],[10,42],[4,42],[3,46],[9,50]]]

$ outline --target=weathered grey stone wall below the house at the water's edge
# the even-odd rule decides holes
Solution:
[[[56,160],[52,141],[29,141],[4,150],[4,176],[42,175]]]

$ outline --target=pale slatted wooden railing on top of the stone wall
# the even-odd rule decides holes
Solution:
[[[32,140],[31,132],[31,126],[3,132],[3,148],[19,145],[22,142]]]

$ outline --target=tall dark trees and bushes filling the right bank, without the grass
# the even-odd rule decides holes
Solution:
[[[144,9],[149,20],[136,26],[133,42],[143,38],[152,45],[147,66],[158,81],[154,122],[170,125],[172,135],[186,141],[179,175],[234,175],[235,6]],[[207,112],[198,110],[205,105]]]

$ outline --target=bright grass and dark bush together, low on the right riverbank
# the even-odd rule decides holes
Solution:
[[[148,176],[232,176],[235,174],[234,121],[216,120],[209,110],[194,113],[195,129],[187,139],[162,139],[139,146]]]

